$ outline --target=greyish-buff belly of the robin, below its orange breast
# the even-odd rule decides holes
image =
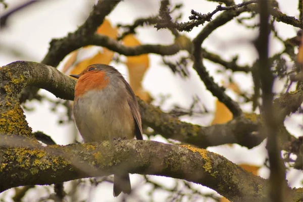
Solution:
[[[74,103],[74,117],[85,142],[134,137],[134,119],[127,100],[89,94]]]

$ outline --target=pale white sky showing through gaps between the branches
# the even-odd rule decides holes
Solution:
[[[7,0],[10,7],[18,5],[22,0]],[[68,32],[73,32],[83,20],[86,19],[89,11],[88,2],[91,0],[53,0],[53,1],[40,1],[34,4],[28,9],[24,9],[21,12],[11,16],[8,21],[8,27],[0,30],[0,48],[2,44],[11,46],[18,49],[20,52],[25,53],[26,57],[16,57],[0,49],[0,66],[6,65],[17,60],[29,60],[40,62],[48,51],[48,43],[52,38],[64,37]],[[127,0],[119,3],[117,8],[109,16],[112,24],[122,23],[130,24],[133,19],[138,17],[147,17],[155,15],[159,9],[159,2],[155,0],[141,1],[141,0]],[[187,21],[190,15],[190,10],[194,9],[200,13],[212,12],[217,4],[206,1],[186,0],[186,1],[171,1],[172,4],[186,2],[181,9],[183,12],[182,21]],[[241,1],[236,1],[240,3]],[[278,1],[281,11],[298,17],[297,1]],[[0,10],[0,12],[3,10]],[[244,14],[245,15],[245,14]],[[251,22],[253,24],[254,22]],[[186,33],[187,36],[193,38],[200,30],[201,26],[194,28],[190,33]],[[297,29],[284,23],[276,23],[276,28],[282,38],[289,38],[296,35]],[[173,42],[173,37],[167,30],[157,31],[153,27],[144,27],[138,29],[138,39],[142,43],[161,43],[169,44]],[[206,47],[209,51],[215,52],[221,55],[224,59],[230,59],[235,55],[239,55],[239,64],[251,64],[256,60],[257,53],[254,47],[249,41],[255,39],[258,30],[247,30],[241,26],[238,26],[234,21],[229,22],[226,25],[220,27],[214,31],[203,43],[203,47]],[[281,49],[281,44],[277,41],[271,43],[271,54],[278,52]],[[181,53],[181,55],[184,53]],[[178,54],[180,56],[180,54]],[[170,57],[177,58],[177,57]],[[201,83],[199,77],[195,71],[189,69],[191,76],[187,79],[181,79],[179,76],[174,76],[170,69],[161,66],[161,58],[157,55],[149,55],[150,68],[147,71],[143,86],[148,90],[151,95],[156,97],[156,102],[159,102],[159,95],[170,94],[171,98],[167,100],[163,109],[169,109],[172,104],[178,104],[183,107],[188,107],[192,102],[192,96],[198,95],[201,102],[207,106],[209,111],[214,111],[215,98],[209,91],[206,90],[203,83]],[[61,64],[62,65],[62,64]],[[221,83],[227,81],[222,75],[216,74],[218,68],[222,69],[218,65],[205,61],[205,65],[211,75],[214,76],[216,82]],[[122,74],[127,75],[127,70],[124,65],[115,65]],[[250,74],[236,73],[234,76],[239,87],[243,91],[252,92],[252,79]],[[280,89],[281,85],[276,84],[276,90]],[[42,91],[41,91],[42,92]],[[228,91],[229,94],[233,94]],[[43,94],[47,94],[49,97],[55,98],[51,93],[43,90]],[[51,107],[48,102],[38,103],[36,101],[28,104],[28,106],[34,106],[36,109],[34,112],[27,112],[27,121],[33,128],[33,131],[41,130],[48,135],[51,135],[58,144],[71,143],[75,134],[75,126],[73,123],[68,125],[58,125],[58,114],[50,112]],[[244,110],[249,111],[250,106],[244,106]],[[59,109],[61,114],[64,114],[64,108]],[[203,116],[200,118],[183,118],[183,120],[207,126],[210,124],[213,116]],[[302,123],[302,116],[295,116],[285,121],[289,131],[295,135],[302,135],[302,131],[298,128],[298,124]],[[157,141],[163,141],[161,137],[155,137]],[[229,147],[226,145],[211,147],[209,150],[223,155],[227,159],[234,163],[247,163],[262,166],[266,157],[265,143],[253,148],[246,149],[239,145]],[[259,174],[262,177],[268,176],[268,170],[261,168]],[[300,180],[302,175],[298,177],[299,172],[291,171],[287,175],[290,185],[301,186]],[[172,185],[173,180],[164,177],[154,177],[155,180],[161,181],[167,185]],[[131,175],[132,186],[138,186],[142,179],[138,175]],[[139,185],[141,186],[141,185]],[[144,192],[148,190],[148,186],[142,186],[140,189],[140,195],[144,197]],[[197,185],[201,188],[202,186]],[[207,188],[203,188],[206,189]],[[41,191],[44,189],[41,187]],[[145,190],[145,191],[144,191]],[[146,192],[145,192],[146,193]],[[45,192],[46,194],[46,192]],[[103,184],[95,191],[95,197],[91,198],[91,201],[116,201],[117,198],[113,198],[112,185]],[[99,197],[102,195],[102,199]],[[83,196],[84,197],[84,196]],[[157,192],[157,201],[164,201],[166,193]],[[118,197],[118,199],[121,199]],[[147,200],[147,198],[146,198]],[[31,201],[28,197],[28,201]]]

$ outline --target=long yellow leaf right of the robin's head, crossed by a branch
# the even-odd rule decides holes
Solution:
[[[136,46],[141,43],[133,34],[128,34],[123,38],[123,43],[127,46]],[[129,84],[134,93],[143,99],[145,102],[150,102],[150,95],[142,88],[142,80],[146,70],[149,67],[148,55],[130,56],[127,57],[126,66],[129,72]]]

